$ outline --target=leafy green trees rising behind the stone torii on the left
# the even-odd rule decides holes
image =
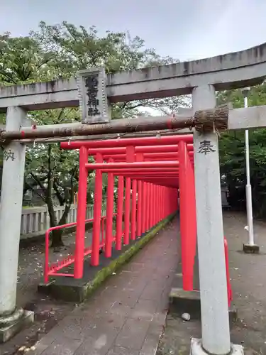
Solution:
[[[171,62],[174,62],[172,58],[160,58],[155,50],[145,48],[141,38],[131,38],[129,33],[107,31],[104,36],[100,36],[94,26],[87,30],[84,26],[76,27],[66,21],[55,26],[42,21],[38,31],[31,31],[26,37],[13,38],[11,33],[0,36],[1,85],[69,78],[77,70],[91,67],[104,66],[107,73],[115,73]],[[111,107],[112,118],[131,118],[140,113],[145,116],[147,108],[169,113],[185,104],[182,97],[124,102]],[[33,111],[29,115],[38,124],[62,124],[80,120],[77,108]],[[45,141],[28,146],[24,192],[39,188],[40,197],[48,206],[51,226],[65,224],[77,183],[76,152],[62,151],[58,144],[45,144]],[[89,177],[89,188],[93,189],[93,185],[92,174]],[[55,204],[65,206],[60,221],[55,217]],[[57,232],[52,244],[62,244],[61,235]]]

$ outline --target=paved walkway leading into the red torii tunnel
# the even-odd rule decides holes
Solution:
[[[177,219],[28,354],[155,354],[177,268],[176,225]]]

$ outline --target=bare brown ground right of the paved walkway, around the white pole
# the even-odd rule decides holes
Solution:
[[[231,342],[242,344],[245,354],[265,355],[266,223],[254,220],[255,239],[260,245],[260,254],[254,255],[243,252],[245,215],[223,212],[223,222],[229,246],[233,302],[238,309],[238,321],[231,329]],[[184,322],[180,317],[168,316],[157,354],[189,354],[191,337],[201,337],[199,320]]]

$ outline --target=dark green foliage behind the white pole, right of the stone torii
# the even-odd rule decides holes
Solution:
[[[240,90],[221,92],[218,104],[232,102],[234,108],[244,106]],[[250,90],[249,106],[266,104],[266,84]],[[221,175],[226,179],[231,196],[231,204],[245,208],[245,131],[223,133],[220,140]],[[250,183],[253,192],[255,216],[266,217],[266,129],[249,130]]]

